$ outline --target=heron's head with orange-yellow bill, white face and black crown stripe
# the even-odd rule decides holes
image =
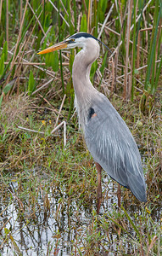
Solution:
[[[65,48],[73,49],[75,47],[84,48],[86,46],[89,38],[92,38],[92,39],[102,43],[97,38],[93,37],[91,34],[88,34],[86,32],[78,32],[78,33],[75,33],[74,35],[70,36],[70,38],[65,39],[63,42],[60,42],[59,44],[54,44],[53,46],[48,47],[47,49],[43,49],[42,51],[40,51],[38,53],[38,55],[46,54],[48,52],[52,52],[52,51],[55,51],[58,49],[65,49]],[[104,44],[104,46],[106,46],[106,45]]]

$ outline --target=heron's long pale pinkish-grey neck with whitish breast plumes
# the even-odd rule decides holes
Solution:
[[[84,125],[87,122],[88,111],[91,107],[92,99],[94,98],[94,95],[98,93],[98,90],[92,86],[89,78],[92,62],[98,58],[98,55],[99,45],[92,39],[92,42],[85,45],[85,47],[75,55],[75,61],[73,63],[75,107],[83,131]]]

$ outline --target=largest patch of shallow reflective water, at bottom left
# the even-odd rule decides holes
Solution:
[[[14,191],[17,185],[12,183],[10,189]],[[21,214],[17,200],[9,202],[1,195],[1,226],[8,221],[5,228],[11,231],[12,238],[9,235],[8,238],[13,242],[8,242],[9,246],[4,243],[0,253],[10,256],[15,251],[23,255],[70,255],[76,230],[81,228],[84,232],[91,216],[81,211],[74,200],[67,199],[66,204],[59,202],[62,196],[50,189],[47,194],[50,210],[45,212],[40,193],[36,212],[31,212],[29,205],[24,209],[25,214]]]

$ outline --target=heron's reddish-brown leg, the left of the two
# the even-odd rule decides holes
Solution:
[[[102,186],[101,186],[101,170],[102,167],[96,162],[96,168],[98,171],[98,189],[97,189],[97,213],[99,214],[99,210],[101,207],[101,201],[102,201]]]

